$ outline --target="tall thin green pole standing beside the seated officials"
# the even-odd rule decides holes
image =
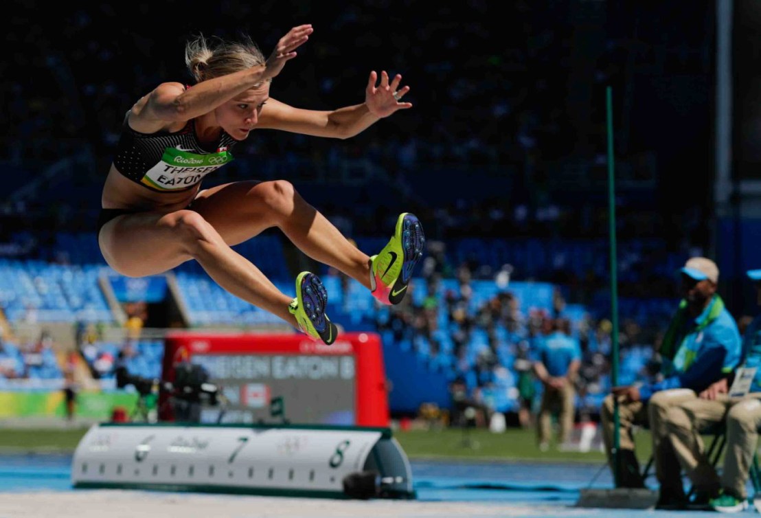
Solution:
[[[613,160],[613,90],[606,88],[606,112],[608,135],[608,231],[610,234],[610,323],[613,329],[610,334],[610,347],[613,354],[611,383],[618,386],[619,354],[618,354],[618,261],[616,260],[616,186],[615,160]],[[619,456],[619,407],[613,405],[613,479],[616,488],[621,479],[621,458]]]

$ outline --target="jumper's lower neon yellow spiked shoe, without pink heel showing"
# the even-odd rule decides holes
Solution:
[[[325,314],[328,293],[323,282],[314,273],[301,272],[296,278],[296,298],[288,304],[288,311],[296,317],[298,329],[327,345],[336,341],[338,329]]]

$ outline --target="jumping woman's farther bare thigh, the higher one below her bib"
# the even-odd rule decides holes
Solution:
[[[268,218],[263,200],[266,183],[257,180],[226,183],[205,189],[193,200],[198,212],[221,235],[228,245],[250,240],[274,223]]]

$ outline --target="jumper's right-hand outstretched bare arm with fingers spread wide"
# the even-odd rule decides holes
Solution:
[[[259,117],[257,128],[282,129],[286,132],[314,135],[316,137],[350,138],[365,131],[378,120],[397,110],[412,108],[412,103],[400,102],[409,92],[409,86],[400,88],[402,76],[397,74],[389,82],[388,74],[370,73],[365,88],[365,102],[345,106],[337,110],[303,110],[269,98]]]

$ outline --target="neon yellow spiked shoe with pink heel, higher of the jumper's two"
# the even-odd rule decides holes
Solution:
[[[371,291],[377,300],[384,304],[403,300],[424,246],[425,234],[416,215],[409,212],[400,215],[391,240],[377,256],[370,258]]]

